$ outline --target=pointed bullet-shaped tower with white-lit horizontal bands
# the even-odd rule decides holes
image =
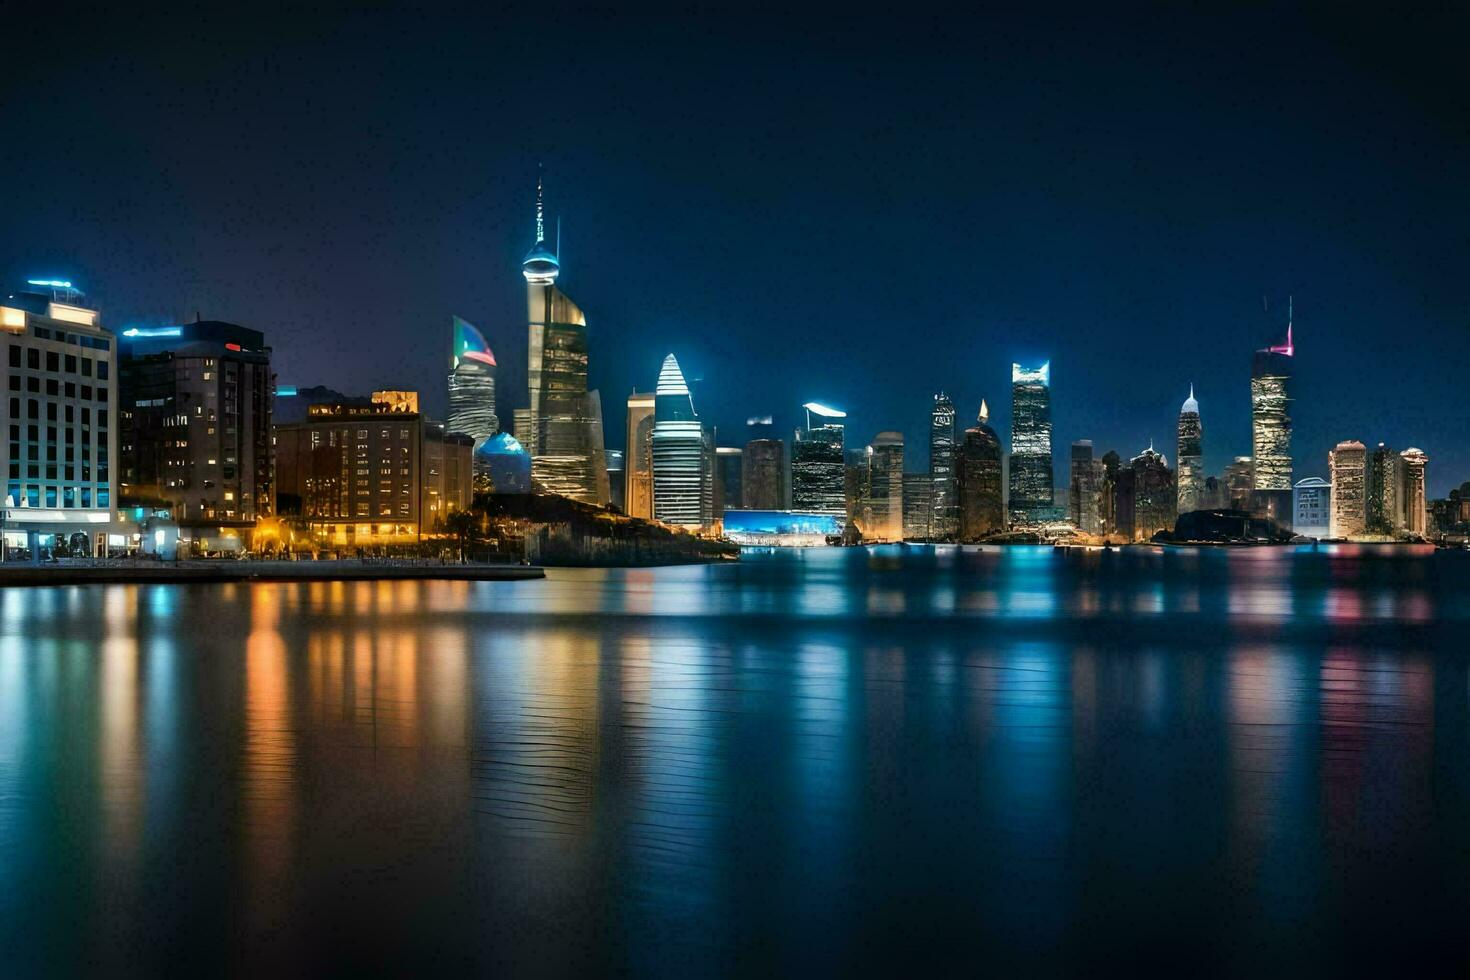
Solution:
[[[663,359],[654,394],[653,516],[666,525],[710,523],[713,488],[706,485],[704,428],[673,354]]]

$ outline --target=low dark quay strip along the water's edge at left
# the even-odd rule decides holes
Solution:
[[[381,579],[447,579],[514,582],[544,579],[538,566],[450,564],[429,561],[119,561],[3,564],[0,586],[185,583],[185,582],[362,582]]]

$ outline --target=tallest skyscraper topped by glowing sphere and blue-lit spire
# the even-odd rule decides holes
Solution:
[[[526,279],[531,407],[517,438],[531,453],[537,489],[606,507],[603,403],[587,388],[587,317],[557,288],[562,264],[545,241],[545,195],[537,179],[537,241],[520,263]]]

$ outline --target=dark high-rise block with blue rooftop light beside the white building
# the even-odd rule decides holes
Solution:
[[[118,338],[118,375],[119,505],[168,507],[191,539],[272,514],[275,376],[259,331],[132,328]]]

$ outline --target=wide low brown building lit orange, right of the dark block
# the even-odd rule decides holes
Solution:
[[[475,441],[388,394],[312,406],[306,422],[275,429],[276,511],[323,544],[413,541],[470,504]]]

